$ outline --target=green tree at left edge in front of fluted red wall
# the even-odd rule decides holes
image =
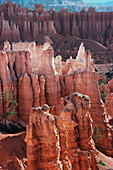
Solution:
[[[2,92],[1,93],[1,103],[3,106],[3,119],[5,120],[5,126],[6,126],[6,119],[10,118],[10,116],[14,116],[17,112],[16,107],[18,106],[18,103],[15,101],[10,101],[8,92]]]

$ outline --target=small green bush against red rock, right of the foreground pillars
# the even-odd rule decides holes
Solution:
[[[94,142],[97,142],[99,140],[99,138],[101,138],[101,137],[102,137],[102,135],[101,135],[99,127],[94,126],[93,127],[93,135],[92,135]]]

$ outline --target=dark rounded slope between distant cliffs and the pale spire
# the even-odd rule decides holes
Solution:
[[[113,63],[113,52],[111,51],[111,49],[103,46],[97,41],[81,39],[69,35],[62,36],[58,34],[51,36],[50,39],[52,40],[51,45],[55,50],[55,56],[61,55],[64,61],[66,61],[70,56],[75,59],[79,46],[83,42],[86,49],[91,51],[92,58],[94,59],[95,64]],[[45,36],[45,41],[48,41],[47,36]],[[109,65],[108,67],[111,66]]]

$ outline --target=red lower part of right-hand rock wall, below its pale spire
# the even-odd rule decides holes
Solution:
[[[101,134],[101,137],[95,141],[96,146],[102,152],[112,156],[112,139],[111,136],[109,136],[109,120],[107,118],[105,106],[100,100],[96,73],[85,72],[82,74],[65,76],[65,85],[66,95],[76,91],[90,97],[90,114],[93,119],[93,127],[95,128],[95,126],[98,126]],[[106,138],[106,136],[108,137]]]

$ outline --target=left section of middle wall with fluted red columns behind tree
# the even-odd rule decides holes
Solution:
[[[50,45],[49,45],[50,46]],[[45,47],[45,50],[43,48]],[[1,91],[8,91],[10,99],[18,102],[18,115],[28,122],[30,109],[43,104],[58,105],[60,101],[59,76],[54,68],[53,49],[42,47],[42,54],[36,57],[37,67],[32,73],[31,61],[28,51],[0,52],[1,57]],[[36,47],[37,49],[40,47]],[[4,48],[5,50],[6,48]],[[2,110],[2,105],[0,103]],[[1,113],[2,116],[2,113]]]

